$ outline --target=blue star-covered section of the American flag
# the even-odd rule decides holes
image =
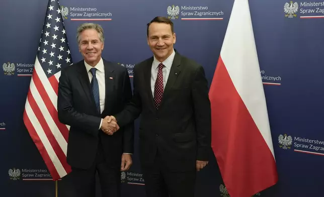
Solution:
[[[45,16],[37,57],[46,76],[51,77],[72,60],[57,0],[49,2]]]

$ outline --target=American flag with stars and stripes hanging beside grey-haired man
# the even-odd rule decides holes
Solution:
[[[71,171],[66,162],[69,126],[57,116],[58,80],[61,69],[70,64],[59,2],[49,0],[23,119],[53,180]]]

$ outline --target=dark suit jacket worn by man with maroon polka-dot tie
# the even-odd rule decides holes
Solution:
[[[176,52],[163,99],[155,109],[150,77],[153,57],[135,65],[133,99],[115,117],[126,125],[141,113],[139,154],[143,166],[153,164],[156,150],[169,170],[191,170],[208,160],[211,110],[204,69]]]

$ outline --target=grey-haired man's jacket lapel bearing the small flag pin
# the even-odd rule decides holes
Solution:
[[[110,62],[107,62],[106,60],[103,61],[105,67],[105,86],[106,86],[105,109],[103,111],[104,113],[105,111],[109,112],[109,109],[111,109],[111,104],[113,103],[112,96],[114,95],[112,94],[112,92],[114,90],[115,75],[114,75],[113,65]]]

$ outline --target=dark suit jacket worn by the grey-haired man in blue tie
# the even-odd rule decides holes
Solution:
[[[102,114],[96,110],[84,60],[61,71],[57,111],[59,121],[70,126],[67,162],[72,167],[90,168],[96,157],[99,140],[110,166],[120,167],[122,153],[133,152],[133,122],[120,127],[111,136],[99,129],[102,118],[119,113],[132,98],[127,69],[104,59],[103,62],[106,97]]]

